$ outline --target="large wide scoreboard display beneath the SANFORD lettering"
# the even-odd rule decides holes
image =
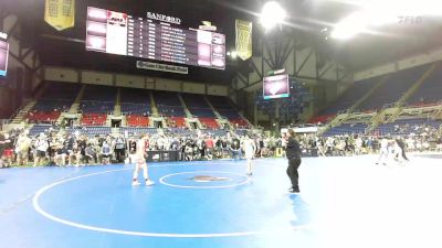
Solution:
[[[225,35],[87,8],[86,50],[177,64],[225,68]]]

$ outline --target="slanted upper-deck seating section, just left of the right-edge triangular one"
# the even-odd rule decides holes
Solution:
[[[390,78],[359,106],[359,110],[379,110],[385,105],[394,104],[429,67],[422,65],[391,74]]]

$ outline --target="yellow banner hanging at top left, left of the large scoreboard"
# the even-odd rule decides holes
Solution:
[[[57,31],[75,25],[75,0],[45,0],[44,21]]]

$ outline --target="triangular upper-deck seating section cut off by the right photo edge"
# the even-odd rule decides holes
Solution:
[[[434,105],[442,100],[442,68],[439,66],[421,85],[421,87],[408,99],[411,106]]]

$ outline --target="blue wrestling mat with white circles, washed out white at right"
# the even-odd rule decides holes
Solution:
[[[441,247],[441,161],[375,160],[305,159],[295,195],[284,159],[1,170],[1,247]]]

